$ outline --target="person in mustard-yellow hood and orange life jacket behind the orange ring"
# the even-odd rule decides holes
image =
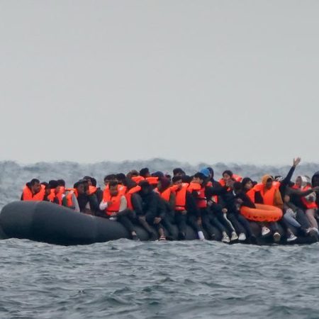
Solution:
[[[262,203],[281,209],[284,208],[284,201],[281,198],[279,185],[274,184],[274,179],[271,175],[264,175],[262,177],[262,183],[255,185],[254,190],[255,203]],[[269,229],[272,230],[274,242],[279,242],[281,235],[279,233],[278,224],[276,222],[269,223]]]

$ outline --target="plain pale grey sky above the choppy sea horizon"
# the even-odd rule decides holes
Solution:
[[[0,1],[0,159],[318,162],[319,1]]]

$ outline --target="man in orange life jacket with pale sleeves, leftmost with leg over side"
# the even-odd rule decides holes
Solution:
[[[108,188],[103,192],[103,201],[101,201],[99,209],[105,211],[106,218],[121,223],[128,230],[133,240],[138,240],[138,235],[132,223],[135,220],[135,213],[128,209],[127,198],[119,191],[117,181],[108,183]]]

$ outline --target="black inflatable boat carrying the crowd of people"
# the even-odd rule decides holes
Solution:
[[[272,237],[261,236],[261,229],[257,223],[250,224],[257,237],[257,245],[272,244]],[[149,240],[149,235],[144,229],[137,225],[136,230],[140,240]],[[174,230],[173,238],[177,238],[176,226]],[[222,237],[220,232],[215,229],[215,233],[216,240],[220,240]],[[287,244],[282,228],[280,233],[280,244]],[[76,213],[69,208],[45,201],[15,201],[4,206],[0,213],[0,237],[35,240],[55,245],[88,245],[94,242],[130,238],[130,234],[121,223],[107,218]],[[186,240],[196,239],[197,234],[188,226]],[[317,240],[316,235],[298,236],[297,240],[289,244],[310,244]]]

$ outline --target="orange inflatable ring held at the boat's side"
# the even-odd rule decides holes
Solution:
[[[269,205],[255,204],[256,208],[242,206],[240,213],[248,220],[259,222],[275,222],[282,217],[280,208]]]

